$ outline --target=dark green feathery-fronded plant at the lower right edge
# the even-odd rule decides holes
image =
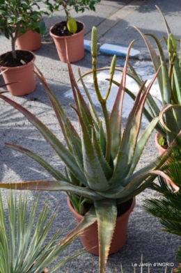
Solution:
[[[178,139],[178,148],[174,148],[172,158],[166,162],[166,172],[175,182],[181,185],[181,139]],[[181,236],[181,191],[173,193],[173,189],[168,187],[166,181],[160,177],[157,191],[160,198],[149,198],[143,201],[143,208],[155,217],[158,217],[162,225],[162,231]],[[181,272],[181,247],[176,251],[176,260],[180,267],[174,272]]]

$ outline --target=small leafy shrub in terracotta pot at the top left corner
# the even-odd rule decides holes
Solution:
[[[6,83],[19,81],[8,86],[8,91],[12,95],[26,95],[36,88],[36,79],[33,73],[33,63],[36,57],[28,51],[35,49],[35,47],[21,46],[19,49],[24,50],[16,50],[15,43],[24,35],[29,35],[29,32],[33,35],[31,42],[34,42],[36,33],[45,33],[45,22],[42,20],[42,14],[47,14],[47,12],[40,10],[37,2],[40,0],[0,1],[0,29],[6,38],[11,40],[12,45],[11,52],[6,52],[0,56],[0,70],[8,68],[3,73],[3,79]]]

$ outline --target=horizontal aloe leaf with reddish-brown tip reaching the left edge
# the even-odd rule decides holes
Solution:
[[[38,180],[38,181],[28,181],[28,182],[13,182],[6,183],[1,182],[0,188],[3,189],[30,189],[30,190],[40,190],[40,191],[63,191],[70,192],[71,194],[77,194],[91,199],[102,199],[102,196],[94,192],[92,189],[86,187],[79,187],[71,185],[68,182],[58,181],[58,180]]]

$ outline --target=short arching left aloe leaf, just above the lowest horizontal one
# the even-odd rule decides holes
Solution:
[[[34,161],[38,162],[43,168],[45,168],[56,180],[64,180],[69,182],[59,171],[54,169],[49,163],[47,163],[42,157],[36,155],[35,153],[31,152],[22,146],[17,146],[11,143],[4,143],[4,146],[8,148],[13,148],[14,150],[18,150],[20,153],[24,153],[25,155],[31,157]]]

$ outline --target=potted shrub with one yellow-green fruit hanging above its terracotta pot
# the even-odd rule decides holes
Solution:
[[[75,21],[70,15],[70,10],[74,9],[77,13],[87,10],[94,10],[95,5],[100,0],[55,0],[52,5],[52,12],[63,8],[66,21],[59,22],[50,28],[49,34],[54,39],[58,56],[64,63],[67,62],[66,46],[70,63],[80,61],[84,58],[84,31],[83,22]]]

